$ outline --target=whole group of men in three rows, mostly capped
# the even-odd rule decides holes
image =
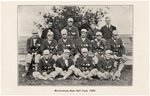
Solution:
[[[27,40],[27,74],[36,79],[65,80],[70,75],[77,79],[119,80],[127,58],[125,46],[118,36],[116,27],[111,25],[110,17],[105,18],[106,25],[98,30],[95,24],[91,29],[81,29],[73,25],[68,18],[68,25],[58,33],[53,30],[43,32],[41,37],[32,31]],[[81,35],[79,35],[81,34]],[[55,37],[60,37],[55,39]],[[24,76],[25,76],[24,75]]]

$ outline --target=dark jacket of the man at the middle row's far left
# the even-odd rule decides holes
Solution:
[[[41,54],[41,44],[42,44],[42,39],[40,37],[37,38],[34,46],[34,41],[33,38],[30,37],[27,40],[27,45],[26,45],[26,50],[28,53],[32,54],[34,52],[37,52],[37,54]]]

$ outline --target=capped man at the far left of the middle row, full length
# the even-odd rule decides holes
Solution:
[[[37,70],[39,59],[41,57],[41,44],[42,39],[38,36],[38,32],[36,30],[32,30],[32,37],[27,40],[26,45],[27,58],[25,70],[29,74],[32,73],[34,70]],[[27,74],[23,74],[23,76],[25,75]]]

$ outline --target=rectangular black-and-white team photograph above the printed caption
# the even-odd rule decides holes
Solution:
[[[18,86],[132,86],[132,5],[18,5]]]

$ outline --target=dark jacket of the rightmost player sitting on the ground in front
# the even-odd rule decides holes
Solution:
[[[96,68],[101,72],[114,72],[116,70],[116,67],[114,66],[114,59],[110,58],[107,60],[105,57],[100,58]]]

